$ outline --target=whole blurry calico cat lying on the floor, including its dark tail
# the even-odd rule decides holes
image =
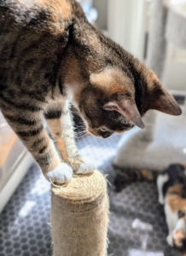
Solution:
[[[164,172],[137,169],[116,169],[115,191],[120,192],[136,181],[156,182],[158,201],[164,206],[169,234],[167,243],[186,253],[186,165],[171,164]]]

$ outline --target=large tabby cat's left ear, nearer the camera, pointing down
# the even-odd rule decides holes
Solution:
[[[127,119],[129,119],[134,125],[137,125],[142,129],[145,127],[142,122],[140,113],[137,110],[137,105],[131,99],[120,99],[108,102],[103,106],[103,109],[108,111],[116,110],[124,115]]]

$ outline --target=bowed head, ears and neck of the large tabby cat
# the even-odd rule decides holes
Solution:
[[[144,128],[148,109],[181,114],[156,75],[118,44],[86,22],[73,27],[73,36],[65,84],[90,134],[109,137],[134,125]]]

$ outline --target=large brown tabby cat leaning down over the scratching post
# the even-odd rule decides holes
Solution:
[[[95,169],[78,154],[69,102],[105,138],[143,128],[148,109],[181,114],[155,74],[91,26],[75,0],[0,0],[0,42],[1,111],[53,183]]]

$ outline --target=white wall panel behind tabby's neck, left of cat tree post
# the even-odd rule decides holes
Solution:
[[[108,35],[143,61],[146,0],[108,0]]]

